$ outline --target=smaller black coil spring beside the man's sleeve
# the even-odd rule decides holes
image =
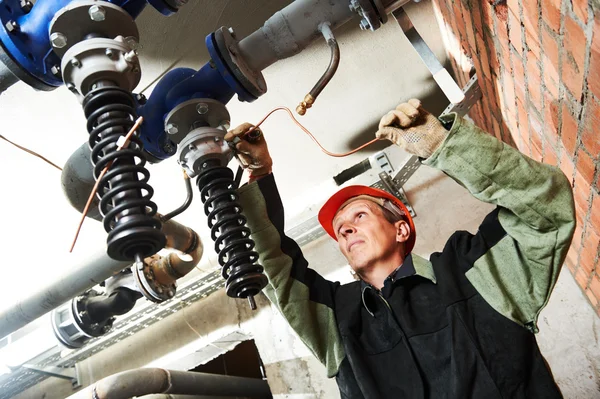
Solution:
[[[197,184],[215,252],[219,254],[221,274],[227,280],[227,295],[253,297],[267,285],[267,277],[263,267],[255,263],[258,253],[253,250],[254,240],[237,202],[233,172],[224,166],[208,165],[199,173]]]

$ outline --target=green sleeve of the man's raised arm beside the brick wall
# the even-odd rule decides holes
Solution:
[[[573,192],[562,171],[528,158],[455,114],[425,165],[481,201],[496,204],[506,235],[477,259],[467,278],[498,312],[537,332],[575,230]]]

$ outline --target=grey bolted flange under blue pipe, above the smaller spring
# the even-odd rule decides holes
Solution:
[[[198,127],[229,128],[230,116],[225,105],[212,98],[185,101],[171,110],[165,118],[165,132],[179,144]]]

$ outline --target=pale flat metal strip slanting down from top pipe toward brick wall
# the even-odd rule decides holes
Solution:
[[[399,8],[392,13],[400,28],[406,35],[408,41],[413,45],[419,57],[423,60],[429,72],[433,75],[433,79],[436,81],[440,89],[444,92],[448,100],[451,103],[457,104],[464,101],[465,96],[458,86],[452,76],[448,73],[446,68],[442,66],[440,61],[437,59],[433,51],[427,46],[425,40],[421,37],[419,32],[413,26],[410,18],[404,11],[404,9]]]

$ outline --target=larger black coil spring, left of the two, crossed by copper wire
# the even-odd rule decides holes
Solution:
[[[108,233],[107,253],[117,260],[139,260],[165,245],[160,221],[154,218],[154,190],[142,142],[133,135],[127,148],[117,151],[117,141],[132,128],[136,112],[131,93],[118,87],[100,87],[83,100],[90,133],[94,177],[112,162],[98,186],[100,213]]]

